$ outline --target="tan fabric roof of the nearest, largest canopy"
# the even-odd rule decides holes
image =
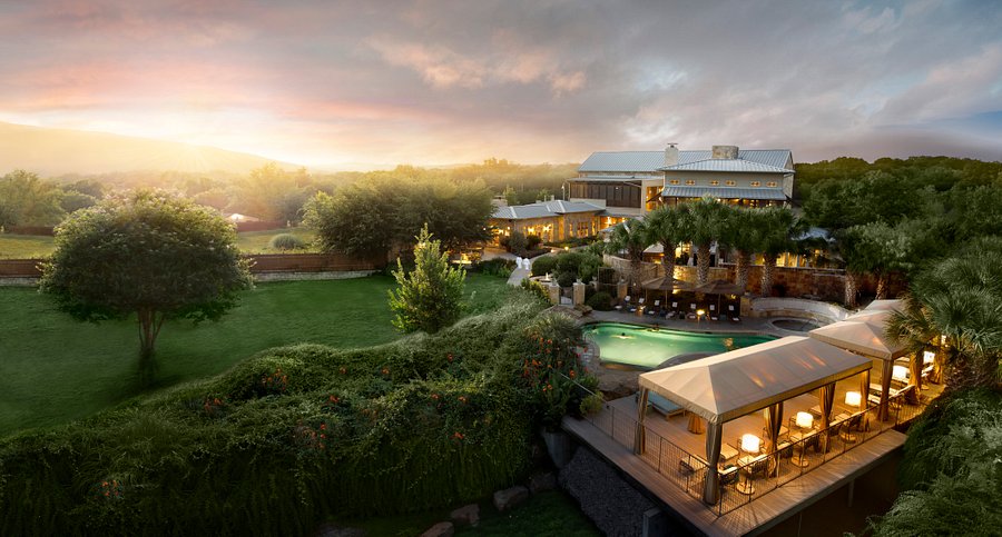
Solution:
[[[868,358],[817,339],[789,336],[640,375],[649,389],[723,424],[868,370]]]

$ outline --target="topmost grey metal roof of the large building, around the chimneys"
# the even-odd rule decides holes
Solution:
[[[687,150],[678,152],[678,163],[688,165],[700,160],[709,160],[709,149]],[[789,149],[740,149],[738,159],[765,166],[787,169],[792,160]],[[596,151],[581,163],[578,171],[587,172],[638,172],[651,173],[665,167],[665,151]]]

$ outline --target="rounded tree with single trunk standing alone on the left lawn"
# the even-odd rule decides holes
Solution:
[[[250,286],[232,225],[194,202],[158,191],[111,198],[56,228],[41,289],[78,320],[136,315],[148,364],[164,321],[217,320]]]

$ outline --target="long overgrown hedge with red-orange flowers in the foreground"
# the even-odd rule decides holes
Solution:
[[[573,325],[540,309],[524,297],[435,336],[271,349],[8,438],[0,535],[307,535],[331,515],[483,497],[525,470],[534,424],[580,405],[552,389],[576,374]]]

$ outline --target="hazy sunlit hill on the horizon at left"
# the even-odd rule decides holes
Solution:
[[[246,173],[273,161],[206,146],[0,122],[0,175],[17,168],[41,176],[138,170]]]

